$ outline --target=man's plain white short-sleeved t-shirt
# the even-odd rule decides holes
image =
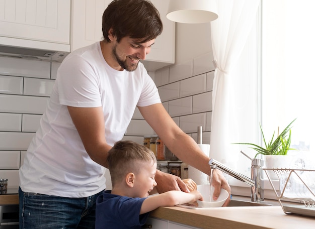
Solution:
[[[99,42],[70,53],[57,71],[40,128],[20,169],[22,191],[87,197],[105,189],[105,168],[89,157],[67,106],[102,106],[106,141],[113,146],[123,138],[137,105],[159,102],[142,63],[132,72],[114,70]]]

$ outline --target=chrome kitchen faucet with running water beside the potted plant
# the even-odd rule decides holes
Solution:
[[[251,200],[253,202],[259,202],[264,200],[264,174],[262,166],[264,164],[264,161],[261,159],[252,159],[249,156],[247,156],[244,152],[241,151],[242,154],[244,154],[246,157],[252,160],[252,167],[251,167],[251,178],[248,178],[247,176],[244,176],[241,173],[235,172],[223,164],[219,163],[218,161],[214,159],[210,159],[209,165],[212,169],[218,169],[238,180],[241,180],[248,185],[251,186]]]

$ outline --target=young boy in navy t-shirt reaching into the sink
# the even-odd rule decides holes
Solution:
[[[95,228],[141,228],[149,211],[203,200],[198,191],[168,191],[148,197],[156,186],[156,158],[152,151],[131,141],[119,141],[108,152],[112,190],[96,201]],[[147,198],[148,197],[148,198]]]

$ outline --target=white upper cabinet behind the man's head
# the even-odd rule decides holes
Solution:
[[[175,63],[175,23],[166,18],[170,0],[151,0],[159,10],[163,33],[141,61],[148,71]],[[71,51],[103,39],[102,16],[112,0],[72,0]]]

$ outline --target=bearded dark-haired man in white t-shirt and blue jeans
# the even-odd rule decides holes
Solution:
[[[168,115],[139,62],[162,33],[159,12],[147,0],[115,0],[102,27],[103,41],[70,53],[58,69],[20,169],[20,228],[94,228],[108,151],[123,138],[136,106],[179,159],[210,174],[209,158]],[[156,171],[155,179],[160,193],[189,192],[179,177]],[[219,171],[213,185],[214,196],[221,187],[230,191]]]

